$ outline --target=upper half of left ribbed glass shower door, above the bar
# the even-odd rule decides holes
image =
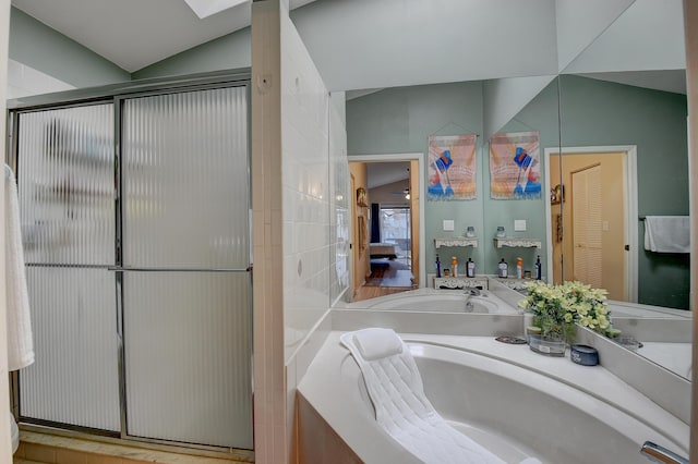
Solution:
[[[17,146],[25,260],[113,265],[113,105],[21,113]]]

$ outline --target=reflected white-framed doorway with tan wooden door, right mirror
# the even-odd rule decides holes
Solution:
[[[637,301],[635,146],[545,150],[549,266],[553,282],[578,280],[609,298]],[[551,194],[552,195],[552,194]]]

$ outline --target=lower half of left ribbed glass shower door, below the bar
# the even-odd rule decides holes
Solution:
[[[119,431],[113,276],[28,267],[27,286],[36,361],[21,371],[20,415]]]

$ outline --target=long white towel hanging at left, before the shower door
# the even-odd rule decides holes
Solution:
[[[26,288],[20,200],[12,170],[4,167],[4,271],[8,308],[8,369],[17,370],[34,363],[29,294]]]

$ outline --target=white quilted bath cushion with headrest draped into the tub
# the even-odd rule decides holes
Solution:
[[[448,425],[424,394],[414,358],[392,329],[346,332],[341,343],[359,364],[376,422],[405,449],[428,464],[505,464]],[[521,464],[540,464],[534,457]]]

